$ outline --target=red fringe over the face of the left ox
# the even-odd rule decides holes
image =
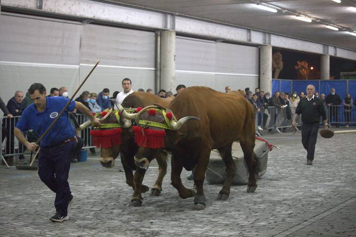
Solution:
[[[99,148],[110,148],[123,143],[121,133],[123,129],[91,130],[93,145]]]

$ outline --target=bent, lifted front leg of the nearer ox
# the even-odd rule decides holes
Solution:
[[[184,187],[181,180],[181,173],[183,166],[175,161],[173,155],[171,159],[171,181],[174,188],[177,189],[179,196],[183,199],[195,196],[195,192],[191,189]]]

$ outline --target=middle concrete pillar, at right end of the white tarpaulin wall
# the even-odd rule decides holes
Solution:
[[[264,92],[272,93],[272,46],[259,48],[259,87]]]

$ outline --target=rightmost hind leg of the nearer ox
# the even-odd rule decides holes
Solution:
[[[255,147],[254,141],[253,143],[247,143],[240,141],[241,148],[244,152],[244,162],[247,166],[247,171],[249,173],[249,182],[247,183],[247,192],[254,192],[257,188],[257,157],[253,152],[253,148]]]

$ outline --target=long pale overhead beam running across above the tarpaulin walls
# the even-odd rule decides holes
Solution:
[[[42,9],[39,9],[39,3]],[[47,15],[84,18],[108,24],[131,25],[143,29],[174,29],[177,33],[227,42],[274,47],[356,59],[356,51],[333,45],[295,39],[254,29],[236,27],[212,21],[193,19],[179,14],[108,4],[90,0],[1,0],[2,7]]]

